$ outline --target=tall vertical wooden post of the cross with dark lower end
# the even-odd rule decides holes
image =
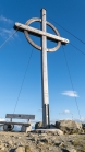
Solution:
[[[46,32],[46,10],[41,10],[41,31]],[[47,72],[47,38],[41,37],[41,91],[42,91],[42,125],[49,125],[49,97],[48,97],[48,72]]]

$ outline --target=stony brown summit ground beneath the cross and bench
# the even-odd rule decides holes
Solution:
[[[65,125],[70,124],[68,131]],[[56,122],[59,126],[58,130],[52,129],[36,129],[31,132],[14,132],[0,131],[0,152],[85,152],[85,133],[82,126],[72,122],[72,126],[77,126],[77,132],[71,128],[71,121]],[[63,133],[59,129],[62,129]],[[74,128],[75,129],[75,128]],[[80,131],[78,131],[80,130]],[[81,132],[82,131],[82,132]]]

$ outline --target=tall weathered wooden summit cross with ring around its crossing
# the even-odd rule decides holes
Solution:
[[[31,27],[29,24],[33,22],[40,22],[41,30]],[[49,25],[57,35],[46,32],[46,25]],[[34,17],[26,22],[26,24],[15,23],[14,28],[25,33],[27,40],[37,49],[41,50],[41,87],[42,87],[42,125],[47,128],[50,125],[49,120],[49,95],[48,95],[48,72],[47,72],[47,51],[56,51],[61,44],[68,44],[69,40],[60,37],[57,28],[49,22],[46,21],[46,10],[41,9],[41,19]],[[41,37],[41,47],[36,45],[31,38],[28,33]],[[57,46],[52,49],[47,48],[47,38],[57,42]]]

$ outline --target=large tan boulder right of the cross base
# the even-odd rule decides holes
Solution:
[[[82,124],[73,120],[60,120],[56,121],[56,127],[62,130],[64,133],[81,133],[83,132]]]

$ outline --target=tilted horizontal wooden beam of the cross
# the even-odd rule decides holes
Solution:
[[[39,36],[46,36],[52,40],[57,40],[57,42],[61,42],[63,44],[68,44],[69,43],[69,39],[65,39],[63,37],[60,37],[60,36],[57,36],[57,35],[53,35],[53,34],[49,34],[49,33],[46,33],[44,31],[40,31],[40,30],[36,30],[34,27],[31,27],[31,26],[27,26],[27,25],[24,25],[24,24],[21,24],[21,23],[15,23],[14,25],[14,28],[17,28],[19,31],[28,31],[28,32],[32,32],[33,34],[36,34],[36,35],[39,35]]]

